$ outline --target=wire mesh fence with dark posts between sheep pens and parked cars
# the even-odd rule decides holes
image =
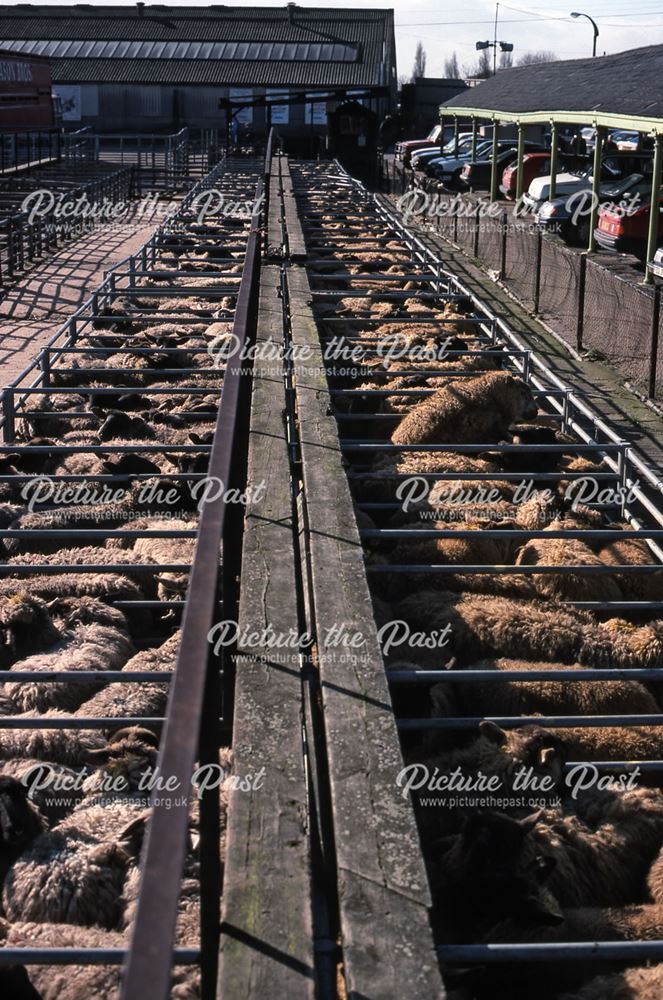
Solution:
[[[396,196],[406,190],[407,179],[397,178]],[[428,194],[428,202],[422,196],[416,206],[412,203],[411,220],[432,224],[441,236],[497,272],[509,291],[569,346],[592,351],[614,365],[637,391],[663,400],[660,290],[639,283],[618,258],[585,255],[542,234],[531,216],[515,218],[511,206],[488,214],[486,201]]]

